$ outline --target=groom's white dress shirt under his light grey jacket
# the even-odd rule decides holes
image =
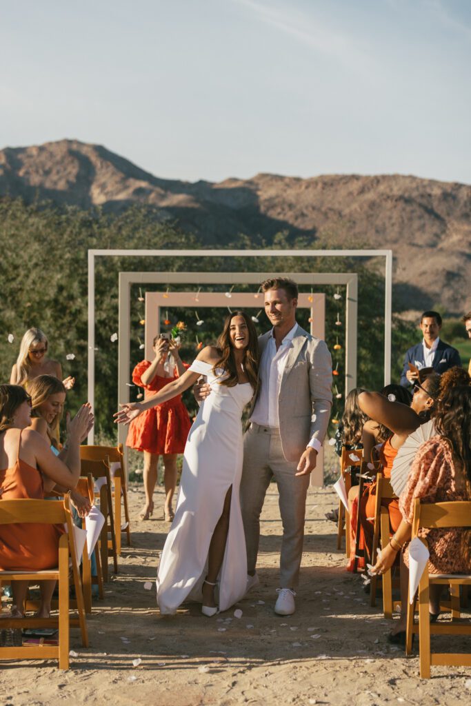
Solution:
[[[273,329],[271,330],[270,338],[263,350],[262,359],[260,362],[259,376],[261,380],[260,395],[254,407],[254,412],[251,415],[251,421],[260,426],[272,426],[276,429],[280,427],[278,418],[278,397],[280,396],[280,386],[283,371],[285,370],[288,351],[292,348],[292,340],[298,328],[297,323],[283,338],[278,351],[276,349],[275,337]],[[306,380],[309,385],[309,381]],[[322,444],[318,439],[311,438],[309,446],[316,451],[321,450]]]

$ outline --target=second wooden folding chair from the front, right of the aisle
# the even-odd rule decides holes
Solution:
[[[378,558],[378,546],[381,538],[381,548],[384,549],[390,539],[390,525],[388,508],[381,505],[381,500],[395,499],[393,488],[389,478],[384,478],[381,473],[376,474],[376,502],[374,506],[374,534],[373,547],[371,550],[371,564],[374,566]],[[383,592],[383,614],[385,618],[393,618],[393,567],[389,568],[381,575]],[[376,606],[376,589],[378,586],[378,576],[371,576],[370,584],[370,605]],[[398,586],[398,585],[397,585]]]

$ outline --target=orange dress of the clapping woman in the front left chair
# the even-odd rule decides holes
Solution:
[[[37,468],[18,458],[11,468],[0,470],[0,503],[2,500],[43,500],[42,475]],[[59,563],[60,525],[0,525],[0,570],[41,571],[56,568]]]

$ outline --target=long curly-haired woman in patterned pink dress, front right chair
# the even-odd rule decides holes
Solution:
[[[469,378],[468,378],[469,379]],[[436,436],[423,443],[410,469],[407,485],[399,499],[403,520],[381,552],[374,571],[384,573],[401,553],[401,599],[407,606],[409,565],[408,542],[412,536],[415,500],[426,503],[471,500],[471,387],[448,388],[434,410]],[[471,532],[460,528],[421,530],[429,545],[430,573],[471,573]],[[430,619],[440,613],[441,586],[430,587]],[[405,642],[407,612],[403,611],[391,633],[393,642]]]

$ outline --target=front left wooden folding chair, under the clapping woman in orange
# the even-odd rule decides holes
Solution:
[[[80,626],[82,645],[88,647],[85,606],[78,558],[73,536],[73,521],[68,497],[64,501],[3,500],[0,503],[0,525],[35,523],[44,525],[66,524],[67,532],[59,539],[59,566],[42,571],[0,571],[1,582],[50,581],[59,582],[59,615],[49,618],[2,618],[1,629],[59,628],[58,645],[25,645],[25,647],[0,647],[0,659],[58,659],[59,669],[68,669],[69,628]],[[73,585],[76,591],[78,618],[69,616],[69,557],[72,564]]]

